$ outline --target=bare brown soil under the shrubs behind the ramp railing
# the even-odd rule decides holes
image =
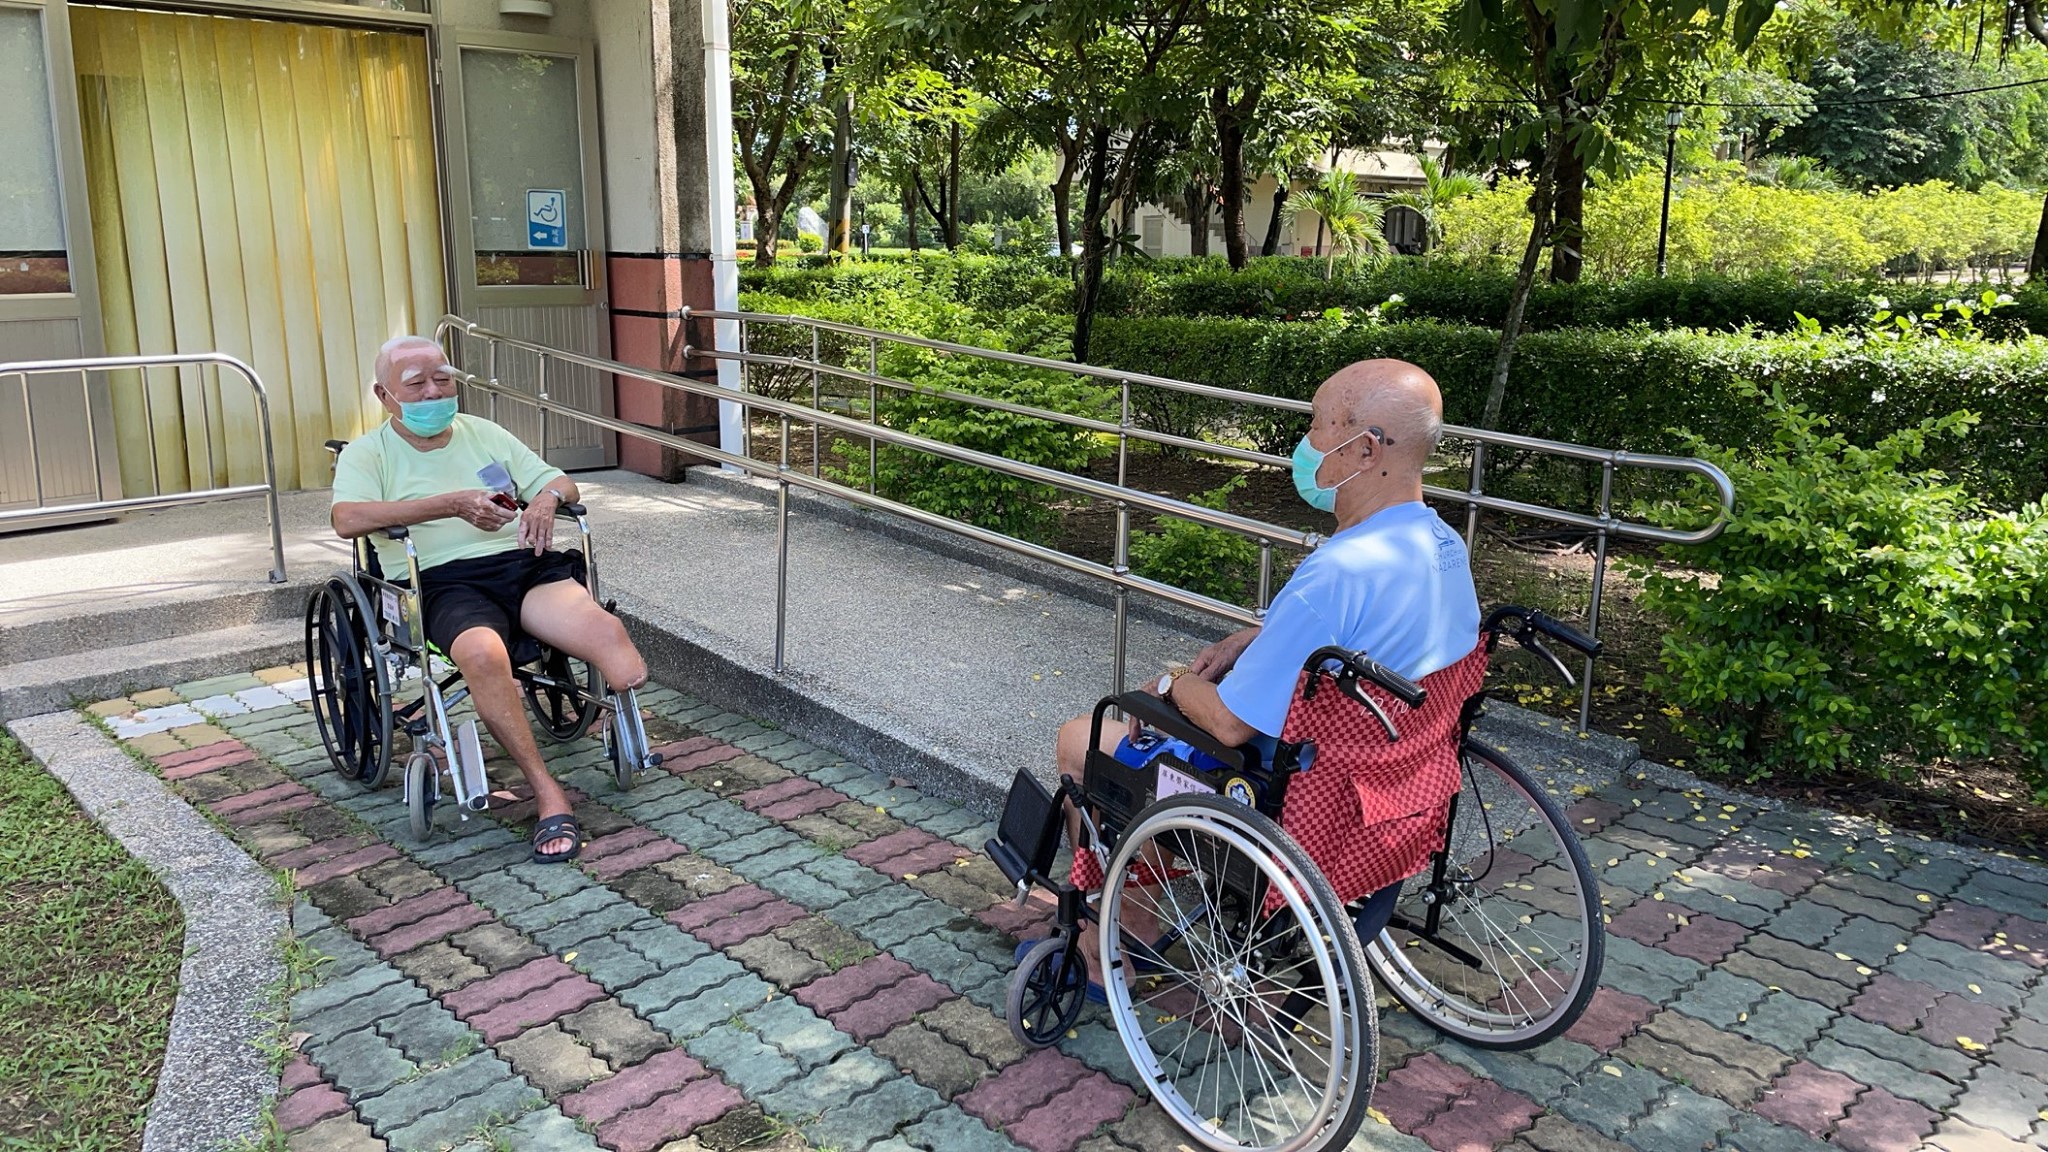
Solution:
[[[776,428],[758,422],[754,455],[776,457]],[[829,437],[821,441],[825,467],[838,463]],[[864,459],[860,461],[866,463]],[[811,469],[811,435],[791,433],[791,465]],[[1249,471],[1241,490],[1231,496],[1233,512],[1296,529],[1327,531],[1329,521],[1311,510],[1294,494],[1292,480],[1278,469],[1243,469],[1233,463],[1133,453],[1128,484],[1163,496],[1188,498],[1217,488]],[[1090,476],[1116,480],[1116,457],[1094,463]],[[1444,478],[1444,486],[1462,480]],[[1090,498],[1065,498],[1055,504],[1061,523],[1049,541],[1073,556],[1108,564],[1114,547],[1114,506]],[[1438,508],[1452,525],[1464,523],[1462,504]],[[1133,515],[1133,531],[1151,527],[1151,517]],[[1280,586],[1294,558],[1276,553],[1274,586]],[[1642,754],[1671,767],[1696,771],[1710,779],[1761,795],[1819,804],[1837,812],[1872,816],[1901,830],[1942,836],[1956,842],[2036,855],[2048,849],[2048,810],[2036,806],[2019,781],[2015,765],[1999,760],[1921,765],[1907,783],[1882,783],[1864,775],[1841,775],[1823,781],[1784,783],[1716,775],[1698,763],[1694,746],[1671,728],[1663,699],[1645,691],[1642,681],[1657,670],[1663,625],[1638,607],[1640,580],[1632,564],[1667,564],[1647,547],[1620,543],[1610,549],[1606,590],[1599,609],[1599,640],[1606,646],[1593,676],[1591,728],[1632,738]],[[1589,535],[1559,533],[1538,523],[1518,523],[1489,515],[1481,521],[1479,545],[1473,549],[1473,578],[1481,605],[1526,605],[1585,627],[1593,586],[1593,541]],[[1573,672],[1579,668],[1575,666]],[[1507,652],[1493,662],[1489,687],[1501,699],[1565,719],[1579,715],[1579,689],[1563,685],[1556,674],[1522,652]]]

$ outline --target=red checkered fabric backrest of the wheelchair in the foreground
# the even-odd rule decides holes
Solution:
[[[1427,693],[1409,709],[1364,683],[1401,732],[1399,742],[1370,711],[1337,691],[1303,697],[1294,687],[1280,740],[1315,744],[1315,758],[1286,785],[1280,826],[1323,871],[1337,900],[1352,904],[1421,871],[1444,847],[1450,799],[1460,785],[1458,719],[1487,678],[1487,646],[1421,678]],[[1274,898],[1268,898],[1270,902]]]

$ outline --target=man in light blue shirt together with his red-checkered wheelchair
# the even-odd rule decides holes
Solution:
[[[1057,793],[1018,773],[989,840],[1020,898],[1059,902],[1061,933],[1018,947],[1012,1031],[1053,1043],[1106,1002],[1145,1091],[1206,1148],[1350,1140],[1376,1068],[1368,943],[1389,992],[1485,1047],[1556,1035],[1597,984],[1569,822],[1466,738],[1499,635],[1595,646],[1526,609],[1481,621],[1464,541],[1423,504],[1440,435],[1415,365],[1331,375],[1294,486],[1337,531],[1262,627],[1063,726]]]

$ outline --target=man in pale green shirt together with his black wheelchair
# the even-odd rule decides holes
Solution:
[[[582,828],[541,758],[522,689],[543,732],[561,742],[606,715],[621,787],[659,763],[647,752],[635,699],[647,664],[596,599],[575,482],[502,426],[459,414],[463,373],[434,340],[387,342],[375,371],[389,420],[350,445],[330,443],[338,449],[332,523],[354,541],[356,566],[307,607],[322,738],[338,767],[377,787],[389,771],[393,724],[403,726],[414,742],[406,799],[414,834],[424,838],[442,771],[465,818],[489,799],[475,722],[451,722],[467,695],[532,791],[532,859],[575,859]],[[578,523],[578,549],[549,547],[557,517]],[[436,658],[457,672],[436,672]],[[397,707],[395,693],[414,672],[420,697]]]

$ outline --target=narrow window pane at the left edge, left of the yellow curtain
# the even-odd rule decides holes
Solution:
[[[72,291],[43,12],[0,6],[0,295]]]

